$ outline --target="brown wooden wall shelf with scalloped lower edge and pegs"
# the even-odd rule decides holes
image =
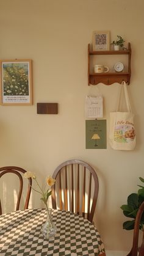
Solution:
[[[128,54],[128,72],[113,72],[113,73],[90,73],[90,56],[91,55],[119,55],[119,54]],[[131,79],[131,44],[128,43],[128,50],[123,51],[90,51],[90,44],[88,44],[88,86],[90,84],[96,85],[99,82],[109,86],[114,82],[125,81],[130,83]]]

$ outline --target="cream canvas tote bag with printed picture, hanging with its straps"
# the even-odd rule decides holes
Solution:
[[[120,112],[122,89],[124,89],[127,112]],[[115,150],[133,150],[136,144],[134,114],[131,111],[126,82],[121,84],[117,112],[110,112],[109,142]]]

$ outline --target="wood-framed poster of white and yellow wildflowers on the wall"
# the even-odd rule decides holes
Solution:
[[[0,60],[1,105],[32,105],[32,60]]]

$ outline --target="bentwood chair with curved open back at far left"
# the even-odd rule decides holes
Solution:
[[[19,180],[20,180],[20,188],[19,188],[19,192],[18,192],[18,200],[16,203],[16,211],[19,210],[20,207],[20,200],[21,200],[21,194],[23,191],[23,177],[21,176],[21,173],[24,174],[26,172],[26,170],[20,168],[20,167],[16,167],[16,166],[5,166],[5,167],[1,167],[0,168],[0,178],[4,175],[4,174],[15,174],[18,176]],[[29,185],[27,188],[27,195],[26,195],[26,202],[24,205],[24,210],[26,210],[28,208],[29,205],[29,198],[31,195],[31,185],[32,185],[32,178],[29,178]],[[1,208],[1,200],[0,200],[0,215],[2,214],[2,208]]]

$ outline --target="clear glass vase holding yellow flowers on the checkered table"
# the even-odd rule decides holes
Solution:
[[[45,224],[43,224],[41,232],[43,236],[49,240],[50,238],[56,235],[57,228],[56,228],[56,225],[52,222],[52,217],[51,217],[52,209],[49,208],[46,211],[47,211],[47,219]]]

